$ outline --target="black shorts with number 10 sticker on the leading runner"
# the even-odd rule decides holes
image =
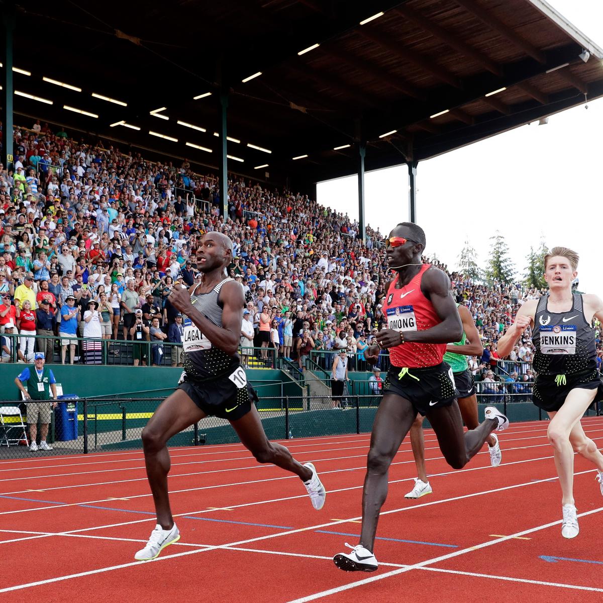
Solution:
[[[251,410],[252,402],[257,402],[257,394],[249,385],[243,367],[218,379],[194,381],[186,373],[182,373],[181,379],[177,389],[210,416],[236,421]]]

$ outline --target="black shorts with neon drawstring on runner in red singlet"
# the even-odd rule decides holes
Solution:
[[[450,406],[458,396],[452,369],[446,362],[435,367],[390,367],[385,377],[383,395],[395,394],[409,400],[419,414],[426,415],[434,408]]]

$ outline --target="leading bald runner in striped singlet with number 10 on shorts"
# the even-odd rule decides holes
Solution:
[[[226,278],[232,262],[232,241],[207,233],[197,247],[200,283],[174,288],[169,301],[183,316],[184,371],[177,390],[165,399],[142,431],[145,465],[157,525],[137,560],[153,559],[180,538],[169,507],[166,442],[208,415],[230,421],[241,443],[259,463],[273,463],[303,481],[315,509],[324,505],[326,491],[312,463],[301,465],[289,450],[268,441],[257,414],[256,393],[247,382],[237,349],[245,298],[242,286]]]

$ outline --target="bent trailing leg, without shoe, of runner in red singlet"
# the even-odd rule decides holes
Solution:
[[[463,431],[461,411],[456,400],[450,406],[441,406],[428,412],[446,462],[453,469],[463,469],[484,446],[488,435],[498,427],[498,421],[487,418],[476,429]]]

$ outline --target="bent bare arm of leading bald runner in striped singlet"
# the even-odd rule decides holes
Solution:
[[[239,333],[243,321],[243,306],[245,296],[239,283],[230,281],[224,283],[218,300],[223,303],[222,326],[218,327],[207,320],[191,303],[191,295],[186,289],[174,289],[169,301],[175,309],[186,314],[201,330],[204,336],[227,354],[235,354],[239,347]]]

